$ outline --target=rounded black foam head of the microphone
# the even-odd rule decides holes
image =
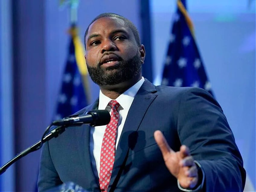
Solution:
[[[107,125],[110,122],[110,114],[107,110],[91,110],[87,114],[91,114],[93,118],[90,126]]]

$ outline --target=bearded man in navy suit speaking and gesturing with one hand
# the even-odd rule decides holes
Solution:
[[[88,191],[242,191],[245,170],[219,104],[200,88],[152,85],[136,27],[101,14],[85,32],[85,59],[107,126],[69,128],[43,146],[38,187],[72,181]]]

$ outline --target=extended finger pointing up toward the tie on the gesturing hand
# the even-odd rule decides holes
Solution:
[[[158,147],[160,148],[163,157],[165,157],[170,152],[174,152],[170,146],[168,145],[163,133],[159,130],[155,131],[154,133],[155,142],[157,143]]]

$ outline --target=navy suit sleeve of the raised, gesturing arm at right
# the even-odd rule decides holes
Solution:
[[[205,173],[204,191],[243,191],[241,154],[221,107],[207,91],[191,88],[182,95],[177,127],[181,144]]]

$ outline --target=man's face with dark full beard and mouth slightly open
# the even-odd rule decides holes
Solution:
[[[89,27],[86,64],[98,85],[116,85],[141,73],[144,47],[138,47],[134,34],[118,18],[100,18]]]

